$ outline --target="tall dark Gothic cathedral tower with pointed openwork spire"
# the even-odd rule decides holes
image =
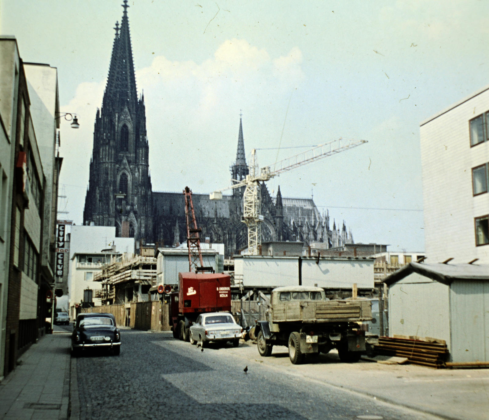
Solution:
[[[115,226],[116,236],[153,241],[153,198],[144,95],[137,96],[128,0],[115,39],[102,108],[95,116],[84,223]]]

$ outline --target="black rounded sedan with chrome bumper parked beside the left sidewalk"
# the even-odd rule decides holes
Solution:
[[[111,313],[80,313],[71,334],[71,353],[78,356],[88,349],[107,349],[118,355],[121,335]]]

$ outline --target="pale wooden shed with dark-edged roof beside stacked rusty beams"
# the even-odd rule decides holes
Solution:
[[[450,362],[489,362],[489,265],[410,263],[386,277],[389,335],[446,341]]]

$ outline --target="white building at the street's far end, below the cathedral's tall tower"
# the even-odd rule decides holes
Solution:
[[[69,315],[85,306],[100,306],[102,284],[93,277],[111,257],[134,252],[134,238],[116,238],[114,226],[71,226],[69,249]]]

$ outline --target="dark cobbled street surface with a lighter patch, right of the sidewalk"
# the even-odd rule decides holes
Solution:
[[[81,420],[434,419],[258,363],[245,374],[230,346],[201,352],[171,333],[121,338],[119,356],[76,360]]]

